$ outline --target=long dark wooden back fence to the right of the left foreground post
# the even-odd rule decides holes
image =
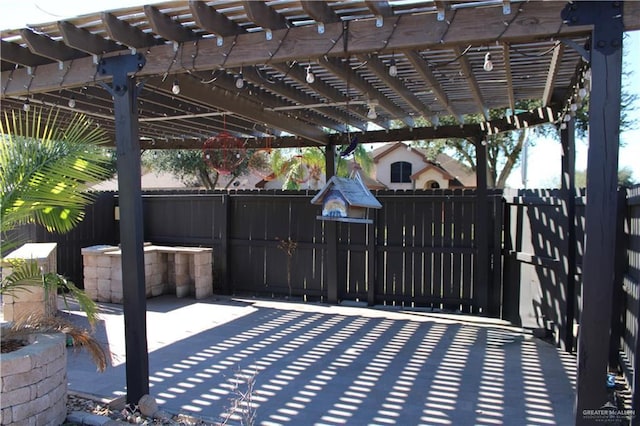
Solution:
[[[318,220],[313,195],[147,193],[145,240],[213,247],[219,293],[327,300],[336,274],[339,300],[499,312],[500,268],[476,274],[474,191],[378,192],[373,225]],[[492,229],[500,203],[493,194],[486,206]],[[490,234],[499,258],[500,232]]]

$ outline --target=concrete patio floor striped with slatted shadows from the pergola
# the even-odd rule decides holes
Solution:
[[[113,365],[98,373],[69,349],[69,389],[115,398],[126,393],[124,315],[121,305],[100,308],[97,336]],[[151,395],[212,423],[246,378],[260,425],[574,423],[575,358],[499,320],[161,296],[147,300],[147,328]]]

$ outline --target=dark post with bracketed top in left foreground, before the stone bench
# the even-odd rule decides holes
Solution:
[[[113,96],[116,125],[120,244],[126,347],[127,403],[137,404],[149,393],[147,299],[144,278],[144,236],[138,138],[138,88],[129,77],[145,64],[141,54],[104,58],[100,75],[112,75],[104,87]]]

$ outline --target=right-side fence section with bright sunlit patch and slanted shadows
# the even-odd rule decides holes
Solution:
[[[504,253],[504,302],[506,319],[525,327],[553,333],[563,346],[575,318],[567,319],[573,304],[579,318],[580,268],[576,288],[567,294],[567,250],[575,250],[576,263],[584,252],[584,199],[576,194],[576,247],[569,247],[566,201],[560,190],[520,190],[505,193],[507,229]],[[575,342],[575,334],[573,339]],[[569,343],[571,346],[573,343]],[[567,348],[569,350],[573,349]]]

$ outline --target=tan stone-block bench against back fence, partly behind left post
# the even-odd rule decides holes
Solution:
[[[122,303],[122,251],[115,246],[82,249],[84,290],[98,302]],[[147,297],[213,295],[213,250],[206,247],[144,246]]]

